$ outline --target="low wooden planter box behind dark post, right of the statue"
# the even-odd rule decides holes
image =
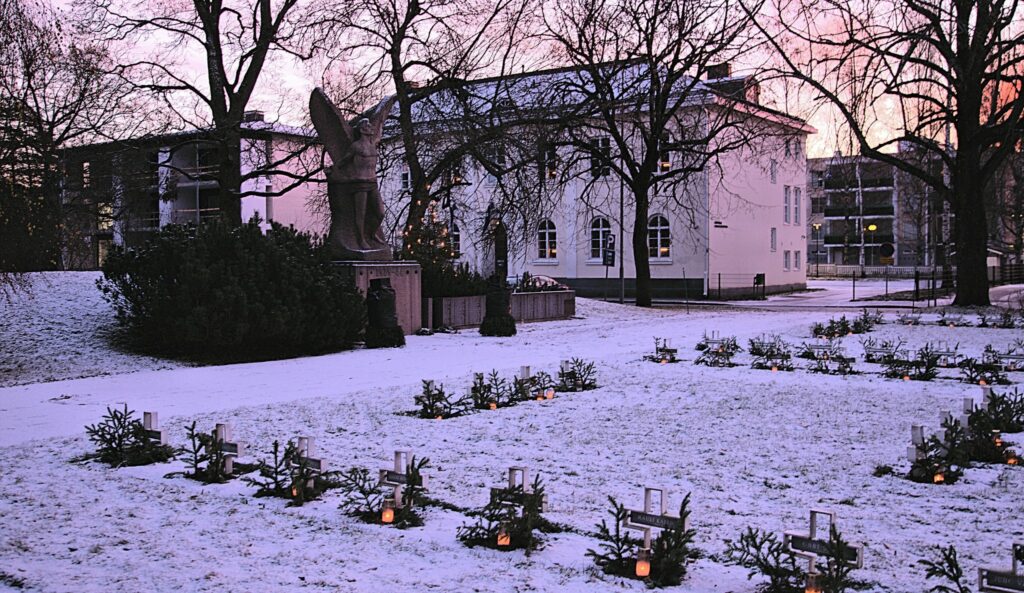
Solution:
[[[472,328],[483,322],[486,297],[441,297],[423,299],[423,327]],[[512,294],[512,317],[516,323],[566,320],[575,314],[575,292],[525,292]]]

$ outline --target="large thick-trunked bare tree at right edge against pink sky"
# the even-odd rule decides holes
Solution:
[[[946,197],[955,215],[957,305],[989,302],[980,188],[1024,125],[1020,4],[774,0],[776,17],[755,20],[779,72],[838,111],[862,155]]]

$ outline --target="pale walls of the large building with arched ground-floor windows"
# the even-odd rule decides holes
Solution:
[[[749,89],[745,82],[724,78],[709,85]],[[688,102],[679,114],[680,121],[689,121],[699,110],[716,109],[717,93],[712,86],[699,85],[705,95]],[[654,298],[749,295],[759,274],[764,274],[765,282],[764,288],[757,288],[759,294],[806,287],[809,201],[804,146],[807,134],[814,130],[801,120],[757,104],[756,96],[756,91],[746,92],[741,107],[751,125],[764,132],[757,141],[722,155],[685,184],[652,195],[647,245]],[[735,109],[735,103],[731,105]],[[593,142],[596,146],[609,143],[600,133],[595,133]],[[626,294],[632,295],[636,272],[629,188],[617,176],[581,156],[579,147],[550,151],[538,150],[536,187],[525,189],[542,197],[528,205],[528,212],[516,211],[519,220],[507,221],[510,274],[526,271],[551,277],[585,296],[617,296],[622,266]],[[711,146],[710,152],[714,151]],[[672,159],[668,153],[662,166],[672,167]],[[551,166],[552,162],[556,164]],[[562,182],[561,172],[548,171],[549,166],[571,167],[575,174]],[[459,261],[493,269],[485,225],[488,206],[500,201],[494,196],[496,182],[479,165],[464,164],[458,174],[462,183],[443,200],[441,217],[450,221]],[[390,211],[399,212],[408,203],[408,172],[401,167],[392,168],[382,179],[382,195]],[[399,221],[394,222],[394,228],[400,228]],[[396,235],[392,237],[398,243]],[[602,255],[609,235],[614,235],[618,252],[614,266],[606,267]]]

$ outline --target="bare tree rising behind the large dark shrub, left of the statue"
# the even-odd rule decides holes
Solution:
[[[282,196],[318,172],[318,166],[309,168],[318,156],[312,136],[307,141],[295,136],[287,150],[259,152],[266,157],[245,162],[246,155],[253,153],[247,143],[254,136],[244,132],[244,120],[268,62],[273,56],[308,57],[297,43],[298,0],[82,2],[93,31],[113,42],[148,48],[121,61],[118,72],[137,88],[162,97],[182,125],[206,131],[198,141],[215,151],[218,165],[202,178],[217,181],[225,222],[242,222],[242,198]],[[200,59],[202,67],[197,68]],[[262,141],[261,134],[267,131],[257,130],[256,140]],[[172,151],[179,147],[172,146]],[[195,171],[177,173],[200,178]],[[285,182],[270,190],[262,185],[244,190],[247,181],[266,176]]]

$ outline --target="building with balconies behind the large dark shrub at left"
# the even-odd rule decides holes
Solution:
[[[95,269],[114,245],[138,246],[168,224],[220,217],[220,158],[207,138],[193,131],[69,149],[61,192],[70,220],[65,267]],[[260,112],[246,114],[240,145],[243,220],[258,216],[264,228],[272,220],[323,230],[322,217],[310,209],[316,184],[275,174],[297,172],[301,165],[290,157],[313,138],[307,130],[264,122]],[[283,187],[289,189],[269,195]]]

